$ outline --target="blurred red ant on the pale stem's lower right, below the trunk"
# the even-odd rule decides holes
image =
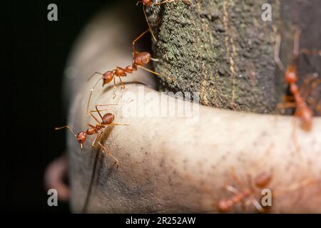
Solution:
[[[233,175],[234,179],[238,182],[238,185],[241,186],[240,181],[238,180],[238,177],[236,175]],[[272,175],[267,172],[262,172],[260,175],[255,177],[254,184],[255,187],[263,188],[266,187],[272,179]],[[253,197],[253,194],[255,192],[255,189],[251,183],[251,178],[248,176],[249,180],[249,186],[245,187],[243,191],[237,190],[235,187],[228,185],[226,188],[228,191],[233,192],[235,196],[230,197],[229,199],[220,199],[218,201],[217,208],[220,212],[229,212],[230,209],[240,202],[243,202],[244,199],[249,199],[250,203],[253,204],[253,206],[258,209],[259,212],[264,212],[264,208],[261,206],[261,204],[258,202],[257,199]]]

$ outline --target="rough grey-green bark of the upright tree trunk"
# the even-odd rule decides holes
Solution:
[[[265,3],[272,6],[272,21],[261,19]],[[302,46],[321,48],[320,1],[198,0],[148,10],[151,23],[161,21],[153,46],[161,89],[199,92],[204,105],[273,113],[287,88],[282,72],[275,74],[276,33],[282,34],[285,63],[295,26],[302,28]],[[320,58],[311,58],[312,64],[300,58],[301,82],[307,73],[320,72]]]

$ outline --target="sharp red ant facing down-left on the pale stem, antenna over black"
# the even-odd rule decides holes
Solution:
[[[116,104],[109,104],[109,105],[116,105]],[[55,129],[60,130],[63,128],[68,128],[71,131],[71,133],[73,133],[73,135],[75,135],[76,140],[79,142],[81,150],[83,150],[83,143],[86,142],[87,135],[96,135],[95,139],[91,143],[91,146],[101,148],[101,149],[103,149],[103,152],[106,152],[107,155],[113,157],[111,152],[106,150],[106,147],[104,147],[101,144],[101,142],[98,142],[98,145],[95,145],[95,143],[96,143],[97,139],[100,138],[101,134],[103,133],[103,128],[105,128],[107,125],[128,125],[128,124],[113,123],[113,120],[115,119],[115,115],[113,115],[112,113],[106,113],[105,115],[101,115],[101,110],[98,110],[98,107],[102,107],[102,106],[107,106],[107,105],[95,105],[96,110],[91,110],[91,112],[90,112],[91,116],[93,117],[94,120],[96,120],[97,124],[95,126],[88,124],[89,128],[86,131],[81,131],[78,134],[76,134],[68,125],[65,125],[60,128],[55,128]],[[99,121],[95,117],[95,115],[93,115],[93,112],[98,113],[99,117],[101,118],[101,121]],[[113,157],[113,160],[115,160],[116,165],[119,164],[116,157]]]

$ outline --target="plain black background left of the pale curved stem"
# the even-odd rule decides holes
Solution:
[[[58,6],[58,21],[47,19],[51,3]],[[66,123],[61,83],[68,53],[81,28],[108,4],[113,1],[11,1],[9,8],[2,8],[9,14],[3,33],[9,38],[3,47],[4,63],[7,59],[13,63],[3,76],[9,79],[3,84],[1,112],[4,212],[69,212],[66,203],[47,205],[44,170],[65,148],[65,134],[54,127]]]

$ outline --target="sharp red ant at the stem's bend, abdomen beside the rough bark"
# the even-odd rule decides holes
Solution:
[[[89,110],[89,103],[91,100],[91,94],[93,93],[93,90],[95,89],[95,87],[97,86],[99,81],[103,80],[103,86],[105,86],[105,84],[110,83],[113,80],[113,88],[114,88],[114,90],[116,90],[116,78],[115,77],[117,76],[119,78],[119,81],[121,81],[121,85],[122,85],[121,88],[125,89],[125,84],[121,80],[121,77],[126,77],[127,73],[133,73],[133,71],[137,71],[138,67],[143,68],[144,70],[159,76],[159,73],[156,73],[154,71],[149,70],[148,68],[143,67],[144,65],[149,63],[151,60],[156,61],[154,58],[151,58],[151,53],[148,53],[147,51],[137,52],[136,48],[135,48],[136,41],[138,41],[138,39],[140,39],[148,31],[151,31],[151,30],[148,28],[148,30],[141,33],[141,35],[138,36],[132,43],[133,62],[131,64],[131,66],[126,66],[126,68],[121,68],[120,66],[116,66],[116,68],[113,69],[113,71],[106,71],[105,73],[95,72],[88,78],[87,81],[91,80],[91,78],[96,74],[102,76],[101,78],[98,79],[98,81],[95,83],[93,88],[91,88],[91,93],[89,95],[87,108],[86,108],[87,114],[89,113],[88,110]],[[114,94],[114,98],[115,98],[115,96],[116,96],[116,93]]]

